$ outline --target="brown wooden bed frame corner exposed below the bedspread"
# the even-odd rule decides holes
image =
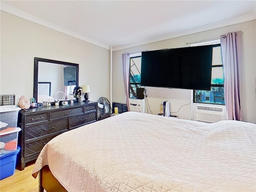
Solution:
[[[53,176],[48,165],[43,166],[39,172],[39,192],[68,192]]]

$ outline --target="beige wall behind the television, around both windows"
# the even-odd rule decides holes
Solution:
[[[122,75],[122,54],[125,52],[133,53],[143,50],[158,50],[164,48],[178,48],[190,46],[186,42],[195,42],[215,38],[227,32],[242,31],[242,68],[241,68],[241,106],[242,118],[246,122],[256,123],[256,38],[255,38],[255,20],[243,22],[231,26],[226,26],[214,30],[208,30],[196,34],[186,35],[178,38],[154,42],[124,50],[113,52],[113,102],[124,103],[124,83]],[[157,67],[157,66],[156,66]],[[184,105],[191,101],[191,91],[168,88],[146,87],[148,93],[148,104],[153,114],[159,112],[159,105],[163,100],[170,101],[171,112],[178,111]],[[147,112],[147,108],[145,108]],[[150,111],[148,110],[150,113]],[[190,105],[181,108],[180,118],[191,119]]]

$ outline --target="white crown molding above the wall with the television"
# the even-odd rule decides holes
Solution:
[[[184,30],[184,31],[181,31],[181,32],[168,34],[168,35],[160,36],[160,37],[157,37],[157,38],[151,38],[151,39],[148,39],[148,40],[135,42],[135,43],[131,43],[131,44],[123,45],[123,46],[116,46],[116,47],[113,47],[113,51],[118,51],[118,50],[127,49],[127,48],[131,48],[131,47],[141,46],[141,45],[154,43],[154,42],[158,42],[158,41],[162,41],[162,40],[177,38],[177,37],[190,35],[190,34],[194,34],[194,33],[198,33],[198,32],[204,32],[204,31],[208,31],[208,30],[212,30],[212,29],[216,29],[216,28],[221,28],[221,27],[225,27],[225,26],[229,26],[229,25],[234,25],[234,24],[238,24],[238,23],[242,23],[242,22],[246,22],[246,21],[250,21],[250,20],[255,20],[255,19],[256,19],[255,13],[250,13],[250,14],[239,16],[239,17],[236,17],[236,18],[224,20],[224,21],[221,21],[221,22],[216,22],[216,23],[213,23],[213,24],[200,26],[200,27],[193,28],[193,29],[190,29],[190,30]]]

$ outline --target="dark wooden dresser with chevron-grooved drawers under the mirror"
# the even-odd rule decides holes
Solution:
[[[81,102],[69,106],[50,106],[20,111],[18,115],[18,168],[36,159],[44,147],[57,135],[97,120],[97,102]]]

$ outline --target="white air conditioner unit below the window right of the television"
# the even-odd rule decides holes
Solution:
[[[224,107],[196,105],[196,120],[212,123],[224,120]]]

